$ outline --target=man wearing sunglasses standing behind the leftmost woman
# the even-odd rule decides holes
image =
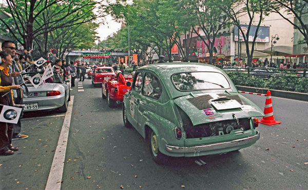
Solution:
[[[28,95],[28,89],[25,85],[25,81],[23,76],[21,75],[21,71],[18,68],[18,65],[16,61],[14,60],[15,52],[16,52],[16,46],[13,43],[13,41],[4,41],[2,43],[2,51],[8,52],[11,57],[13,58],[12,66],[10,67],[9,73],[11,77],[13,77],[13,85],[21,85],[21,88],[17,90],[13,90],[13,100],[15,104],[23,104],[23,97]],[[23,84],[23,85],[22,85]],[[23,116],[23,113],[21,113],[21,117],[18,120],[17,124],[14,124],[14,131],[13,131],[13,138],[12,140],[17,139],[25,139],[28,138],[28,135],[22,135],[22,123],[21,118]]]

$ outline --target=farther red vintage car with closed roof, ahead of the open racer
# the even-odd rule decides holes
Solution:
[[[112,67],[97,67],[92,72],[92,84],[100,85],[104,80],[109,80],[115,76]]]

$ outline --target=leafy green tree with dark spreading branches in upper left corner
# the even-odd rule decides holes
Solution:
[[[25,49],[32,47],[38,36],[58,28],[71,27],[95,19],[92,10],[97,2],[91,0],[6,0],[1,9],[12,15],[12,19],[0,18],[13,37]],[[48,18],[48,19],[47,19]]]

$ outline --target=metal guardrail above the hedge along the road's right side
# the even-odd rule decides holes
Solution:
[[[308,77],[307,68],[298,68],[298,69],[276,69],[276,68],[270,68],[270,67],[225,67],[221,68],[225,72],[245,72],[250,77],[253,76],[259,76],[259,77],[271,77],[271,75],[276,76],[290,76],[290,77],[296,77],[296,78],[304,78]],[[255,70],[263,70],[263,71],[255,71]],[[268,71],[271,70],[271,71]]]

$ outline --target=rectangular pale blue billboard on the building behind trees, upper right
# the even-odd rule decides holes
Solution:
[[[244,32],[244,35],[246,35],[247,31],[248,31],[248,25],[240,25],[241,29]],[[248,37],[248,41],[253,41],[255,34],[256,34],[256,30],[257,30],[257,26],[251,26],[250,30],[249,30],[249,37]],[[237,26],[234,26],[234,40],[238,41],[239,40],[239,28]],[[242,32],[240,31],[240,39],[244,40]],[[264,26],[260,26],[258,33],[257,33],[257,38],[256,38],[256,42],[264,42],[264,43],[268,43],[269,42],[269,27],[264,27]]]

